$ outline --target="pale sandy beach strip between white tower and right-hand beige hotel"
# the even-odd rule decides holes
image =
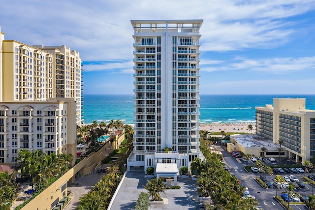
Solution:
[[[249,125],[252,125],[252,131],[247,130]],[[200,130],[209,132],[221,132],[225,133],[256,133],[255,123],[214,123],[214,124],[201,124]]]

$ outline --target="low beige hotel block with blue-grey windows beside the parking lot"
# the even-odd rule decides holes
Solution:
[[[315,154],[315,111],[305,109],[306,99],[275,98],[274,105],[257,106],[257,135],[282,144],[289,158],[310,160]]]

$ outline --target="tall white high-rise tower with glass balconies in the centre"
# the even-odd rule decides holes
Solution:
[[[202,156],[199,150],[202,22],[131,21],[135,133],[134,150],[127,160],[130,171],[172,163],[177,165],[178,175],[181,167],[189,167],[195,157]]]

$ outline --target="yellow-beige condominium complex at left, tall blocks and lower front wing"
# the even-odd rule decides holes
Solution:
[[[64,45],[30,46],[0,31],[0,162],[20,149],[75,155],[83,123],[81,58]]]

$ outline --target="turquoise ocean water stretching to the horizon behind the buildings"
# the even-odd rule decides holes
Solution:
[[[315,95],[200,95],[200,123],[254,123],[255,106],[273,105],[274,98],[305,98],[315,110]],[[133,95],[84,95],[84,124],[111,119],[133,123]]]

